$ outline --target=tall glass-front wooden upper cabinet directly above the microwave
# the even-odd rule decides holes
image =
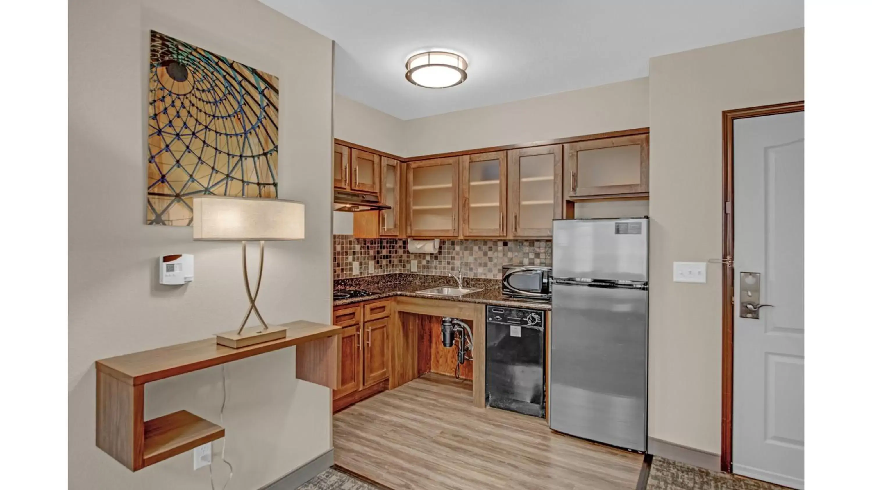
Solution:
[[[562,145],[508,151],[509,238],[550,237],[562,218]]]

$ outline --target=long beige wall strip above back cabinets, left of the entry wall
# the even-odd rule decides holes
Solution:
[[[404,157],[648,125],[648,78],[405,121]]]

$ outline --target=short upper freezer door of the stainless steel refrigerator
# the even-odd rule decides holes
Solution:
[[[554,278],[648,280],[648,219],[558,219]]]

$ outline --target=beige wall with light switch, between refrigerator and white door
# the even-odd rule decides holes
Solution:
[[[720,453],[721,112],[803,98],[803,30],[651,59],[651,437]]]

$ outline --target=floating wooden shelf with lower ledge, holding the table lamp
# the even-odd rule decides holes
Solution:
[[[338,386],[342,327],[310,321],[283,324],[285,339],[232,349],[215,339],[100,359],[97,367],[97,446],[132,471],[224,437],[224,429],[185,410],[143,420],[145,384],[296,346],[296,378]]]

